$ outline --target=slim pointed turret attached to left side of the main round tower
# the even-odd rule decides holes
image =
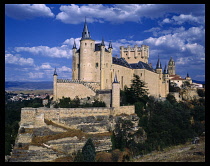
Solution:
[[[74,45],[72,47],[72,80],[79,79],[79,55],[76,54],[77,47],[74,40]]]

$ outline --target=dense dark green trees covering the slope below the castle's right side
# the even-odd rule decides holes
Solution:
[[[124,127],[121,132],[112,136],[114,149],[129,148],[134,156],[142,155],[153,150],[163,150],[168,146],[184,144],[205,131],[204,98],[177,102],[169,94],[165,101],[157,101],[145,93],[137,95],[138,89],[140,92],[145,90],[138,79],[134,76],[132,88],[121,91],[121,105],[135,105],[135,112],[140,118],[139,126],[147,133],[147,140],[144,143],[126,140],[128,138],[122,136],[122,132],[127,130]]]

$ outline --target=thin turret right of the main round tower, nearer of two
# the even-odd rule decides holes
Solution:
[[[101,81],[101,89],[105,88],[105,80],[104,80],[104,70],[105,70],[105,44],[104,38],[102,38],[102,42],[100,45],[100,81]]]

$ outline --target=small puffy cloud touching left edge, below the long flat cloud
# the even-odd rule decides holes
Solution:
[[[33,66],[34,60],[32,58],[23,58],[20,55],[5,54],[5,63]]]

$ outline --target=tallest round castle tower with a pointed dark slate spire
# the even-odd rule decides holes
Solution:
[[[82,38],[80,40],[80,57],[79,57],[79,79],[86,82],[94,82],[95,67],[95,40],[90,38],[87,23],[85,20]]]

